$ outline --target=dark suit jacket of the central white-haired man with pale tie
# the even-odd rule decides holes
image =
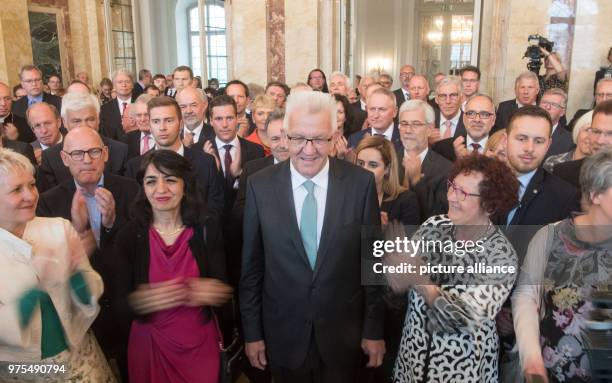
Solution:
[[[298,368],[311,344],[323,363],[351,368],[363,356],[362,338],[383,339],[381,289],[361,283],[362,260],[372,254],[361,230],[380,227],[372,173],[329,159],[314,271],[297,219],[289,161],[249,177],[240,280],[245,341],[265,340],[271,363],[285,368]]]

